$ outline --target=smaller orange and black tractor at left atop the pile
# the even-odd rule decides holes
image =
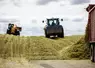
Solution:
[[[21,27],[17,27],[15,24],[8,24],[7,34],[20,35]]]

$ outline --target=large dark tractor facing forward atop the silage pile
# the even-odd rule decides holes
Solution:
[[[63,21],[63,19],[61,19]],[[43,21],[44,23],[45,21]],[[64,29],[63,26],[60,25],[60,19],[59,18],[50,18],[46,19],[46,25],[44,27],[45,37],[50,38],[50,36],[53,37],[60,37],[64,38]]]

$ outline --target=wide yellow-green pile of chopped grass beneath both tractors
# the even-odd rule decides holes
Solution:
[[[0,35],[0,57],[34,59],[88,59],[84,36],[49,39],[43,36]]]

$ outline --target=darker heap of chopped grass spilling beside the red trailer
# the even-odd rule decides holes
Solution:
[[[63,59],[89,59],[90,50],[89,46],[85,43],[84,36],[64,50],[62,54],[65,54],[62,55]]]

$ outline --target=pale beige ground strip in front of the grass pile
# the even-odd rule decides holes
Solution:
[[[95,68],[90,60],[0,59],[0,68]]]

